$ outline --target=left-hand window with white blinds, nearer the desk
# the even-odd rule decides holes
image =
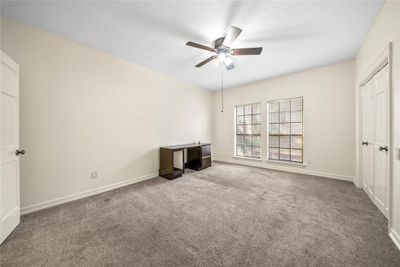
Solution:
[[[261,158],[261,104],[235,107],[235,155]]]

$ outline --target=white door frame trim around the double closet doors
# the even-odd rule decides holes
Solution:
[[[393,44],[390,42],[385,49],[379,54],[379,56],[375,59],[375,61],[369,66],[367,71],[362,75],[361,83],[357,85],[358,89],[358,115],[357,115],[357,138],[356,138],[356,148],[357,148],[357,154],[359,155],[357,157],[357,173],[358,173],[358,181],[356,185],[360,188],[363,188],[363,176],[362,176],[362,146],[361,146],[361,139],[362,139],[362,87],[377,74],[383,67],[388,65],[388,72],[389,72],[389,88],[388,88],[388,106],[387,106],[387,114],[388,114],[388,146],[389,146],[389,151],[388,151],[388,175],[389,175],[389,212],[388,212],[388,233],[390,233],[391,228],[392,228],[392,204],[393,204],[393,90],[392,90],[392,68],[393,68]]]

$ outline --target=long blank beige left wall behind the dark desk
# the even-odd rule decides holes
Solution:
[[[159,146],[211,141],[206,90],[6,18],[1,49],[21,69],[22,207],[154,175]]]

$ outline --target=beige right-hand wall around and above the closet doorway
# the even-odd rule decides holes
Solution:
[[[358,84],[364,79],[376,58],[393,42],[393,207],[392,227],[400,241],[400,161],[395,159],[396,149],[400,148],[400,2],[387,1],[365,38],[356,58],[356,100],[359,99]],[[357,101],[357,110],[359,103]],[[357,135],[359,139],[359,134]],[[359,157],[358,157],[359,159]],[[359,171],[359,170],[358,170]],[[360,171],[358,172],[360,177]]]

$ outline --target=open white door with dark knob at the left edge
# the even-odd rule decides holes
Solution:
[[[1,52],[0,244],[19,224],[19,67]],[[18,150],[19,151],[19,150]],[[21,152],[21,151],[19,151]]]

